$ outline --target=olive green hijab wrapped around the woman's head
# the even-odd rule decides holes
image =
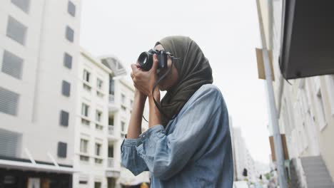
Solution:
[[[167,91],[161,100],[162,124],[167,125],[174,115],[178,115],[183,105],[202,85],[213,83],[212,70],[201,48],[186,36],[168,36],[158,41],[165,51],[173,54],[174,66],[178,70],[178,83]]]

